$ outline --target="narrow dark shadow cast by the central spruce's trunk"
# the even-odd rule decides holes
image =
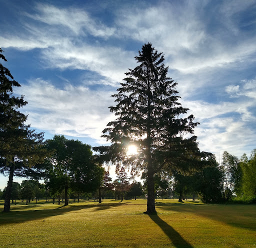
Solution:
[[[193,246],[183,239],[169,224],[163,221],[157,214],[148,215],[168,236],[173,245],[177,248],[193,248]]]

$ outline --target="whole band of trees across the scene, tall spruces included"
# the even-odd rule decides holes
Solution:
[[[7,61],[2,49],[0,58]],[[142,171],[147,214],[155,213],[155,193],[164,195],[166,188],[178,193],[179,201],[188,194],[199,195],[204,202],[225,202],[234,195],[255,198],[255,150],[240,160],[225,151],[221,164],[212,153],[200,151],[193,135],[199,123],[192,114],[186,116],[189,109],[179,102],[177,82],[167,76],[164,55],[147,43],[135,60],[138,65],[125,73],[112,95],[116,105],[109,109],[116,119],[102,131],[111,144],[93,147],[94,155],[91,146],[79,140],[63,135],[44,140],[43,133],[31,129],[19,111],[27,102],[12,93],[20,84],[0,64],[0,172],[8,176],[3,211],[10,210],[14,175],[44,178],[50,195],[59,199],[63,194],[64,205],[70,192],[98,190],[101,200],[102,164],[116,166],[121,199],[125,168],[133,177]],[[137,152],[127,153],[130,145]]]

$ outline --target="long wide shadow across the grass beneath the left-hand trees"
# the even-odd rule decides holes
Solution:
[[[121,204],[127,204],[124,202]],[[92,209],[92,211],[105,210],[112,207],[120,206],[118,202],[116,203],[101,203],[101,204],[79,204],[79,205],[67,205],[59,206],[56,205],[55,208],[50,209],[27,209],[27,210],[11,210],[9,212],[0,212],[0,226],[5,224],[26,222],[35,219],[42,219],[46,221],[47,217],[62,215],[70,211],[77,211],[81,209]],[[17,208],[16,208],[17,209]]]

